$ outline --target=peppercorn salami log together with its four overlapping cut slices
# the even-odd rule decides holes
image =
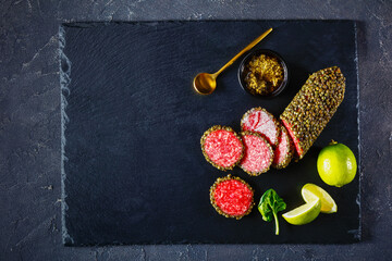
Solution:
[[[249,175],[285,167],[294,151],[302,159],[344,98],[345,78],[336,66],[309,76],[280,115],[281,124],[264,108],[248,110],[241,120],[242,139],[230,127],[213,126],[201,137],[207,161],[219,170],[236,164]]]

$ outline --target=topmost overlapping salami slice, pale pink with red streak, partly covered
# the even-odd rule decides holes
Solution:
[[[253,108],[241,120],[242,130],[258,133],[272,146],[279,141],[280,128],[274,116],[262,108]]]

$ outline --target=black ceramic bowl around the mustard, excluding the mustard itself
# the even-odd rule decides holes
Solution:
[[[245,65],[252,60],[253,57],[260,55],[260,54],[266,54],[268,57],[277,58],[279,63],[283,67],[283,80],[282,80],[281,85],[274,91],[272,91],[268,95],[259,95],[259,94],[256,94],[255,91],[249,90],[246,87],[246,83],[245,83],[245,77],[246,77],[245,72],[244,72]],[[287,64],[284,62],[283,58],[281,55],[279,55],[277,52],[268,50],[268,49],[257,49],[257,50],[250,51],[248,54],[246,54],[246,57],[241,62],[241,65],[238,69],[238,80],[240,80],[241,87],[249,95],[260,97],[260,98],[272,98],[272,97],[278,96],[280,92],[282,92],[282,90],[287,86],[287,83],[289,83]]]

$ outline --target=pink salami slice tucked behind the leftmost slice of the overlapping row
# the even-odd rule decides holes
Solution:
[[[267,172],[273,160],[270,144],[257,133],[243,132],[241,135],[245,146],[244,158],[240,163],[241,169],[252,176]]]

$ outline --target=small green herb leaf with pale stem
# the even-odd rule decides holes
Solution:
[[[262,220],[275,222],[275,235],[279,235],[278,212],[285,210],[286,204],[281,197],[272,188],[268,189],[260,199],[258,210],[262,215]]]

